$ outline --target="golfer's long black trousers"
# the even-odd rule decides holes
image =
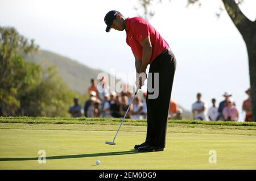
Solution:
[[[160,148],[164,148],[166,146],[168,112],[170,106],[172,84],[174,82],[175,69],[176,59],[172,51],[160,54],[150,65],[147,81],[151,81],[152,86],[150,86],[150,83],[147,83],[146,96],[147,145]],[[152,89],[150,87],[155,89],[155,91],[151,92]],[[156,96],[157,91],[158,96]]]

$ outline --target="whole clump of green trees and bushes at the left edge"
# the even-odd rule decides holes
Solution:
[[[24,59],[38,46],[14,28],[0,27],[0,116],[69,116],[73,97],[55,66]]]

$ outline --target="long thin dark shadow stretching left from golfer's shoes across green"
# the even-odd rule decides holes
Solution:
[[[129,150],[129,151],[106,152],[106,153],[60,155],[60,156],[46,157],[46,159],[48,160],[48,159],[104,157],[104,156],[115,156],[115,155],[136,154],[136,153],[141,153],[141,152],[139,152],[137,150]],[[0,158],[0,162],[2,162],[2,161],[30,161],[30,160],[38,160],[38,157],[34,157],[34,158]]]

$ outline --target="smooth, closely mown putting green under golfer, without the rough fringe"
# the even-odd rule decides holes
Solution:
[[[17,129],[16,124],[1,123],[0,169],[256,169],[255,135],[170,131],[164,151],[139,153],[133,146],[144,141],[146,132],[121,129],[113,146],[105,144],[113,131],[30,129],[30,124]],[[39,150],[46,151],[45,164],[38,163]],[[217,151],[217,163],[209,163],[210,150]]]

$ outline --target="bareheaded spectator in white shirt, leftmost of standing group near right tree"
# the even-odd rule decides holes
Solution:
[[[206,105],[201,101],[201,93],[197,93],[197,101],[192,104],[192,113],[195,120],[205,120]]]

